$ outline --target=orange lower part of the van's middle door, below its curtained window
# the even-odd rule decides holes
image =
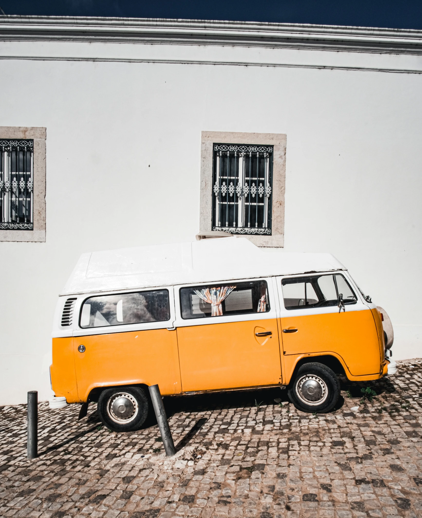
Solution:
[[[178,327],[177,336],[183,392],[282,382],[276,319]]]

